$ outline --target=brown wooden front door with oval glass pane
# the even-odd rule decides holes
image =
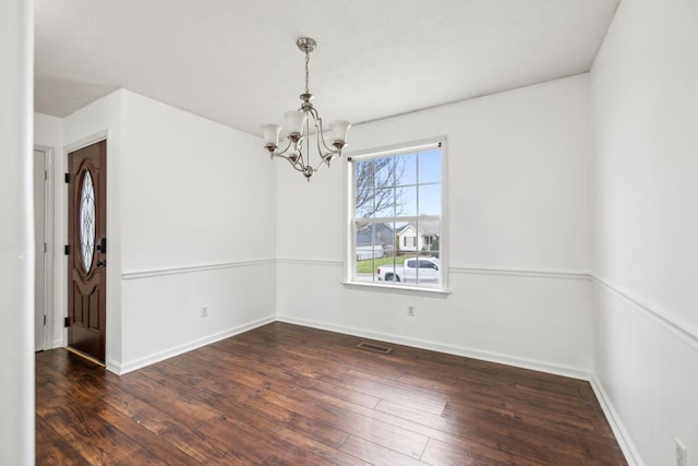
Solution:
[[[107,142],[68,154],[68,346],[105,361]]]

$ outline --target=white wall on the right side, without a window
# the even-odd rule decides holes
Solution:
[[[698,464],[698,3],[625,0],[593,64],[593,367],[647,465]]]

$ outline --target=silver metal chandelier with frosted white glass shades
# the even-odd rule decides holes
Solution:
[[[286,118],[286,146],[281,151],[279,148],[279,133],[281,127],[279,124],[264,124],[262,132],[264,135],[264,147],[269,152],[272,159],[274,157],[285,158],[291,164],[297,171],[305,176],[308,181],[322,167],[323,164],[329,163],[332,159],[341,156],[341,148],[347,145],[347,132],[351,127],[349,121],[338,120],[332,123],[332,144],[325,141],[323,130],[323,119],[317,115],[317,110],[313,107],[313,95],[308,87],[310,53],[315,50],[317,43],[310,37],[301,37],[296,43],[298,48],[305,53],[305,92],[300,95],[303,101],[298,110],[291,110],[284,113]],[[314,144],[311,141],[311,126],[314,131]],[[311,146],[317,147],[316,154],[311,158]]]

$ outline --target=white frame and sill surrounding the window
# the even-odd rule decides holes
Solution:
[[[400,292],[410,295],[446,297],[448,290],[448,140],[446,136],[430,138],[420,141],[408,142],[404,144],[394,144],[368,151],[361,151],[348,154],[348,169],[346,179],[346,228],[345,228],[345,280],[347,288]],[[441,237],[440,237],[440,263],[441,263],[441,287],[424,287],[409,284],[395,284],[390,282],[359,282],[354,279],[356,266],[356,241],[357,234],[354,231],[354,162],[366,160],[372,158],[388,157],[392,155],[409,154],[411,152],[425,151],[429,148],[441,148]]]

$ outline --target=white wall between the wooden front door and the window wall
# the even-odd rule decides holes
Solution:
[[[64,127],[69,148],[108,136],[110,370],[274,319],[274,172],[257,138],[124,89]]]

